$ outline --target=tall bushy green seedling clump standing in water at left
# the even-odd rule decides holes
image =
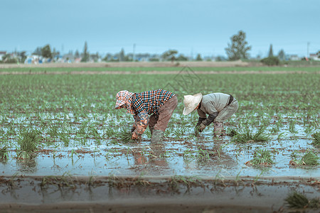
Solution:
[[[18,145],[20,148],[17,153],[20,158],[30,158],[33,152],[38,149],[38,143],[41,141],[41,133],[31,129],[20,133]]]

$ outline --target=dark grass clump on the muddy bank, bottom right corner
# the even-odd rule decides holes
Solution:
[[[308,200],[306,196],[302,195],[299,192],[292,192],[291,195],[285,199],[288,206],[294,209],[305,209],[305,208],[319,208],[320,200],[314,198],[312,200]]]

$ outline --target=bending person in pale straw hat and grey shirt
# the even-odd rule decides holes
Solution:
[[[199,119],[195,129],[196,135],[213,122],[215,136],[221,136],[223,122],[238,110],[238,101],[232,95],[220,92],[206,95],[201,93],[185,95],[183,104],[184,115],[195,109],[198,111]]]

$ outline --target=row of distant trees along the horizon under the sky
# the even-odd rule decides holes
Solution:
[[[250,58],[249,51],[251,50],[252,46],[248,44],[246,40],[246,34],[244,31],[238,31],[237,34],[232,35],[230,38],[230,43],[228,43],[228,47],[225,48],[225,53],[228,55],[228,59],[225,59],[223,56],[218,56],[215,58],[216,61],[221,60],[245,60]],[[320,50],[317,53],[320,58]],[[21,53],[17,53],[19,60],[23,62],[26,59],[26,51]],[[33,55],[39,55],[43,58],[55,59],[59,58],[61,55],[59,51],[56,51],[55,48],[51,50],[50,45],[45,45],[43,47],[38,47],[33,52]],[[102,58],[99,53],[90,54],[88,51],[87,42],[85,41],[85,46],[83,48],[83,52],[79,53],[78,50],[75,53],[71,51],[66,54],[66,59],[71,58],[81,58],[81,62],[89,62],[89,61],[98,61],[103,60],[107,62],[117,62],[117,61],[137,61],[139,58],[148,58],[149,61],[187,61],[187,60],[196,60],[201,61],[201,55],[196,55],[196,58],[188,58],[183,54],[178,54],[178,50],[167,50],[161,55],[157,54],[149,54],[149,53],[138,53],[134,55],[133,53],[129,53],[127,55],[124,54],[124,49],[119,53],[111,54],[107,53],[104,58]],[[267,58],[263,58],[261,62],[265,63],[266,65],[279,65],[279,61],[285,60],[286,56],[284,50],[280,50],[277,56],[273,55],[272,45],[270,45],[269,55]],[[5,55],[3,57],[2,62],[12,62],[12,58],[10,55]]]

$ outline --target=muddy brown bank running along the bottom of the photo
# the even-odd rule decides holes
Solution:
[[[319,196],[319,180],[295,177],[0,177],[1,212],[291,212],[292,191]],[[295,211],[302,209],[294,209]],[[303,209],[319,212],[319,209]]]

